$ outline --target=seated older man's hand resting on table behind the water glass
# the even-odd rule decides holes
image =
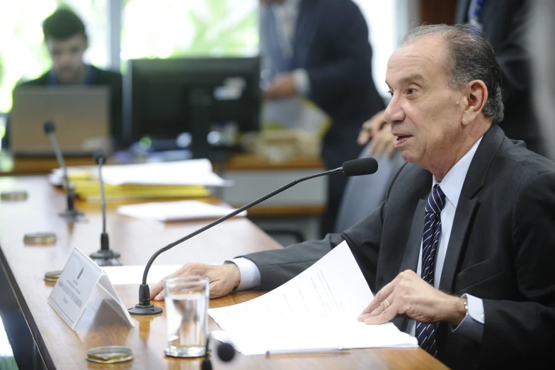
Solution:
[[[241,282],[241,272],[236,264],[200,264],[190,262],[184,264],[171,275],[173,276],[200,275],[210,279],[210,298],[218,298],[230,293]],[[159,281],[150,288],[150,299],[164,301],[164,282]]]

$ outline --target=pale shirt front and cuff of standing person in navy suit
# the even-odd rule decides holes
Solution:
[[[282,4],[273,4],[271,9],[275,16],[277,33],[285,37],[280,49],[283,55],[292,57],[294,35],[299,20],[301,0],[285,0]],[[294,86],[298,94],[307,96],[310,92],[309,74],[306,69],[299,68],[292,71]]]

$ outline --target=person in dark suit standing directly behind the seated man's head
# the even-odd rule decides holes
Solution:
[[[500,127],[508,138],[522,140],[526,147],[546,155],[532,99],[532,71],[527,50],[527,24],[530,3],[526,0],[458,0],[455,23],[468,24],[471,30],[481,30],[496,53],[503,73],[503,103],[505,119]],[[383,119],[383,111],[362,125],[357,139],[365,145],[374,138],[369,151],[372,155],[394,151],[394,136]]]

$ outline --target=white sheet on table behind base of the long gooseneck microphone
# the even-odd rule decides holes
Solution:
[[[149,269],[147,284],[156,284],[183,264],[153,264]],[[102,268],[113,285],[141,284],[144,266],[106,266]]]

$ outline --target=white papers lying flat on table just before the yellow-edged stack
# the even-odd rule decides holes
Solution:
[[[176,201],[119,206],[118,213],[149,220],[178,221],[220,218],[234,211],[234,209],[201,201]],[[237,216],[246,216],[246,211],[239,213]]]

